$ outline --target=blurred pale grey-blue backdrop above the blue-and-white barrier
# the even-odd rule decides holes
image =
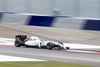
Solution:
[[[100,0],[0,0],[0,12],[100,18]]]

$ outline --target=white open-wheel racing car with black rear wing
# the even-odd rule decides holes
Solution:
[[[54,41],[44,41],[40,39],[39,36],[32,36],[27,38],[27,35],[16,35],[15,36],[15,42],[16,47],[21,46],[35,46],[38,48],[46,48],[46,49],[69,49],[69,47],[64,46],[61,42],[54,42]]]

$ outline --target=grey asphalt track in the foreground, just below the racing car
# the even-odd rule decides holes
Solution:
[[[100,67],[100,54],[14,46],[0,46],[0,54]]]

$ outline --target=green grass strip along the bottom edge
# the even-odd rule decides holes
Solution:
[[[0,67],[92,67],[62,62],[0,62]]]

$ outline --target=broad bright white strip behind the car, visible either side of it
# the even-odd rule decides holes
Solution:
[[[15,41],[15,39],[11,39],[11,38],[0,38],[0,44],[4,44],[4,45],[12,45],[12,46],[14,46],[14,41]],[[88,44],[64,43],[64,45],[70,47],[71,49],[100,48],[100,46],[88,45]]]

